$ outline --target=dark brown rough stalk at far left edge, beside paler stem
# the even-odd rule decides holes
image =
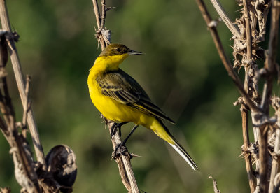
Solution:
[[[6,41],[6,34],[2,34],[1,41]],[[1,43],[1,46],[7,46],[7,44]],[[1,49],[3,50],[3,49]],[[3,52],[0,53],[1,64],[0,71],[2,75],[5,75],[6,64],[3,64]],[[18,183],[25,188],[28,192],[41,192],[38,185],[38,177],[34,171],[31,153],[25,147],[25,139],[18,134],[15,126],[15,111],[11,103],[10,94],[8,92],[8,84],[6,76],[1,76],[1,87],[0,87],[0,110],[6,123],[1,120],[1,130],[6,137],[10,145],[10,153],[13,155],[13,161],[15,164],[15,177]]]

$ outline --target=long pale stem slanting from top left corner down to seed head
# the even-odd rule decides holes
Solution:
[[[8,11],[6,8],[6,1],[0,0],[0,17],[1,17],[1,24],[3,29],[6,31],[11,31],[10,29],[10,21],[8,18]],[[15,80],[18,84],[18,90],[20,92],[20,99],[22,100],[22,104],[25,104],[25,101],[27,101],[27,94],[25,93],[25,78],[22,73],[21,65],[20,65],[20,59],[18,57],[18,52],[15,47],[15,42],[13,41],[13,38],[8,39],[8,44],[10,45],[10,59],[13,64],[13,71],[15,73]],[[44,168],[45,166],[45,157],[43,153],[43,148],[41,145],[41,141],[38,135],[38,129],[36,126],[36,122],[34,120],[34,114],[33,111],[30,109],[27,112],[27,123],[29,125],[29,130],[32,136],[32,140],[34,143],[34,149],[36,153],[36,157],[38,162],[41,162],[43,164]]]

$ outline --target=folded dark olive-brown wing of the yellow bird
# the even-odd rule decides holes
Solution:
[[[167,117],[167,115],[151,101],[148,94],[146,94],[139,83],[121,69],[104,73],[98,76],[96,80],[99,87],[102,89],[102,94],[105,96],[110,96],[112,99],[127,106],[131,106],[132,108],[136,108],[143,113],[175,124],[172,119]]]

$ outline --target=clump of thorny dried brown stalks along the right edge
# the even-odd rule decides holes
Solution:
[[[241,9],[240,19],[236,21],[237,26],[239,28],[237,30],[235,30],[235,25],[230,22],[230,19],[221,7],[221,3],[219,3],[218,0],[211,0],[211,2],[213,3],[218,14],[222,17],[223,21],[228,26],[230,31],[232,31],[232,39],[235,41],[233,47],[235,67],[239,66],[239,68],[241,68],[241,66],[244,66],[245,69],[243,89],[240,87],[241,80],[239,80],[239,77],[235,74],[235,71],[233,71],[230,62],[228,62],[227,56],[225,56],[225,52],[223,51],[221,41],[218,37],[218,32],[216,31],[215,22],[211,20],[211,17],[207,12],[207,8],[204,5],[204,2],[202,0],[197,0],[198,6],[202,12],[202,16],[207,22],[207,26],[209,27],[211,35],[214,38],[216,48],[219,52],[225,69],[227,69],[227,71],[230,73],[230,76],[234,80],[235,85],[237,85],[241,96],[243,96],[243,98],[239,100],[239,103],[241,103],[242,105],[241,117],[244,138],[244,157],[246,162],[246,170],[248,173],[250,189],[251,192],[267,192],[268,175],[270,172],[269,166],[272,164],[271,162],[269,162],[267,130],[269,128],[270,130],[272,130],[272,127],[276,127],[275,125],[273,125],[275,124],[275,122],[269,120],[269,101],[272,94],[274,71],[276,69],[276,47],[279,31],[278,28],[280,3],[279,1],[272,0],[272,24],[269,36],[269,50],[268,55],[265,59],[265,69],[259,71],[258,66],[255,64],[255,60],[259,57],[262,57],[263,53],[260,47],[258,47],[257,43],[264,40],[265,25],[270,1],[238,1],[239,6],[243,6],[243,9]],[[241,36],[237,35],[237,31],[240,31]],[[258,94],[258,80],[262,76],[266,78],[266,81],[262,93],[262,99],[260,99]],[[247,108],[246,106],[248,106],[248,110],[251,110],[253,131],[255,136],[255,147],[258,147],[259,150],[259,157],[254,156],[256,158],[256,170],[260,173],[260,175],[257,176],[257,185],[253,176],[251,160],[252,152],[248,152],[248,147],[250,143],[248,138],[248,112],[247,110],[245,110],[245,108]],[[278,141],[276,143],[278,143]],[[271,144],[269,143],[269,145]],[[277,148],[274,149],[275,154],[279,153],[276,152],[276,150]],[[275,190],[272,181],[274,181],[274,179],[276,178],[276,172],[278,171],[277,164],[279,164],[278,162],[276,162],[275,159],[273,163],[275,164],[275,166],[274,164],[272,164],[273,173],[270,178],[271,183],[269,187],[269,192]],[[258,190],[258,187],[260,188],[260,190]]]

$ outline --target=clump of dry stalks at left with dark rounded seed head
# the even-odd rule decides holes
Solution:
[[[18,34],[10,31],[6,3],[0,0],[0,17],[2,27],[6,30],[0,31],[0,130],[10,145],[10,154],[13,157],[15,166],[15,178],[22,186],[21,192],[71,192],[71,186],[76,179],[76,156],[69,147],[65,147],[63,153],[53,153],[52,162],[45,164],[43,148],[38,137],[33,113],[29,106],[29,82],[23,79],[23,74],[18,59],[18,53],[15,48],[15,41],[18,41]],[[8,53],[13,64],[15,79],[18,83],[18,90],[22,99],[24,113],[22,122],[16,122],[15,110],[13,108],[10,94],[8,91],[6,63],[8,62]],[[37,161],[32,157],[31,148],[26,139],[26,124],[29,125],[31,138],[35,147]],[[22,133],[20,133],[22,129]],[[54,149],[54,148],[53,148]],[[50,155],[50,153],[48,155]],[[55,156],[57,155],[57,156]],[[49,159],[48,159],[49,161]],[[51,167],[51,168],[50,168]],[[9,189],[1,189],[0,192],[10,192]]]

